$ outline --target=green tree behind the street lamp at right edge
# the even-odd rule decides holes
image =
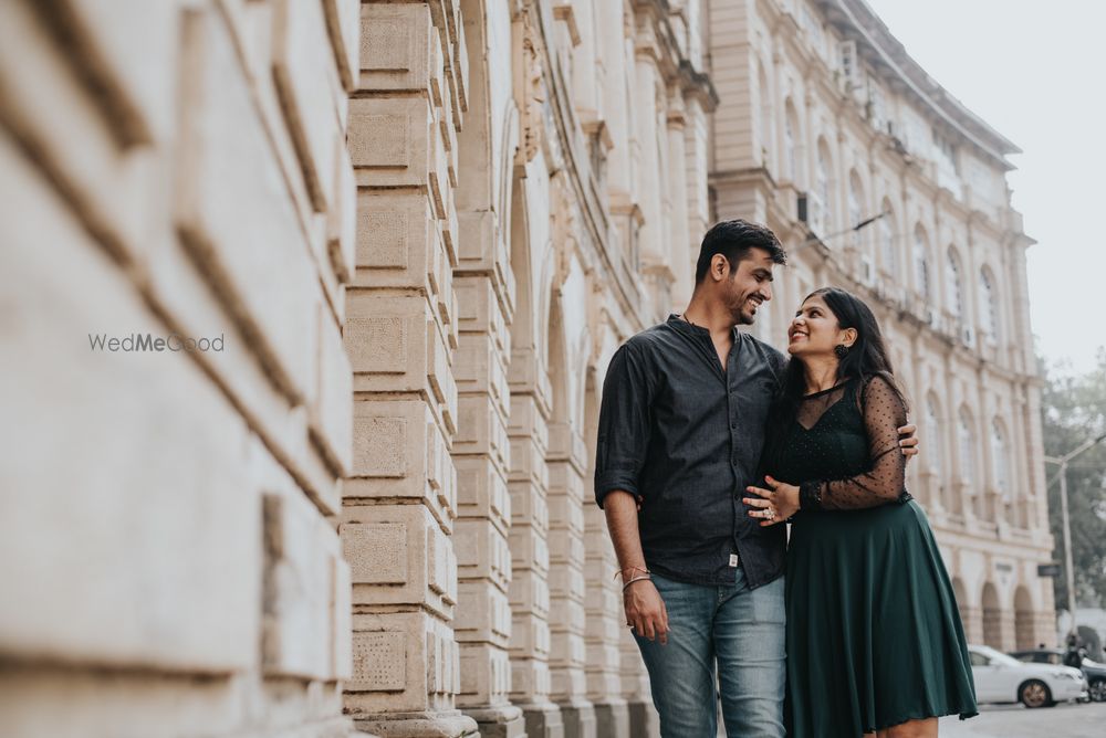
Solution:
[[[1042,362],[1043,366],[1043,362]],[[1088,439],[1106,432],[1106,349],[1098,351],[1098,368],[1086,375],[1043,370],[1044,452],[1068,453]],[[1046,466],[1048,523],[1056,540],[1055,560],[1064,560],[1064,524],[1055,464]],[[1067,465],[1067,508],[1072,527],[1072,561],[1077,607],[1106,602],[1106,442]],[[1055,577],[1057,607],[1067,605],[1065,577]]]

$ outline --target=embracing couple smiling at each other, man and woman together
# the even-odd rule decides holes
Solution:
[[[843,289],[799,306],[790,360],[737,330],[785,261],[769,229],[718,223],[687,310],[611,360],[595,496],[626,624],[665,738],[713,737],[719,700],[729,736],[936,736],[975,699],[905,486],[907,404],[872,310]]]

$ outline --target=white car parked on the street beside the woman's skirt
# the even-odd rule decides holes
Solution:
[[[1087,679],[1077,668],[1026,664],[990,646],[969,645],[968,654],[978,703],[1052,707],[1058,702],[1087,698]]]

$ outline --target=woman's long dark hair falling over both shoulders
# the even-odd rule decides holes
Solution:
[[[856,330],[856,340],[849,347],[848,354],[837,362],[835,383],[852,378],[859,378],[866,382],[873,377],[883,377],[898,394],[905,407],[907,404],[906,397],[904,397],[898,382],[895,381],[884,336],[879,330],[876,316],[872,314],[872,308],[853,293],[838,287],[815,289],[803,298],[803,303],[805,304],[811,297],[821,297],[825,302],[826,307],[837,318],[841,328]],[[792,358],[787,362],[783,384],[772,407],[770,415],[770,430],[772,432],[770,435],[775,435],[776,431],[782,431],[791,424],[799,412],[799,404],[805,392],[806,379],[803,373],[803,362]]]

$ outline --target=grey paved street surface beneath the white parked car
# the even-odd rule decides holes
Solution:
[[[1025,709],[1021,705],[987,705],[979,717],[941,719],[941,738],[1102,738],[1106,736],[1106,703]]]

